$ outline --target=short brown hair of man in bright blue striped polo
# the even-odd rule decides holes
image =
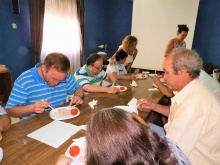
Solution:
[[[55,68],[58,72],[67,73],[70,69],[70,61],[62,53],[53,52],[47,55],[44,60],[47,69]]]

